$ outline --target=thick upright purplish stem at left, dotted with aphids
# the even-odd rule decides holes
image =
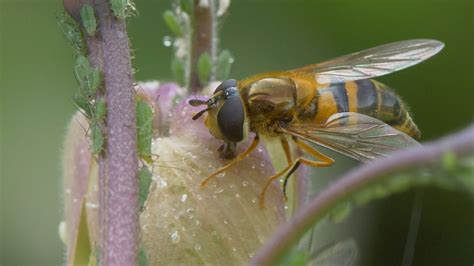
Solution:
[[[96,0],[107,102],[106,159],[101,168],[101,265],[135,265],[138,252],[138,158],[135,99],[125,21]]]

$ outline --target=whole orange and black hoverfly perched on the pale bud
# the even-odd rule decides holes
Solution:
[[[190,100],[192,106],[207,105],[193,116],[207,112],[205,125],[224,144],[221,157],[233,158],[210,174],[213,177],[244,159],[258,145],[260,136],[280,138],[288,165],[268,178],[288,177],[300,164],[326,167],[334,159],[310,144],[324,146],[359,161],[388,156],[392,151],[417,145],[420,131],[405,103],[388,86],[370,78],[418,64],[438,53],[444,44],[436,40],[407,40],[385,44],[289,71],[258,74],[240,81],[222,82],[206,101]],[[254,132],[250,146],[235,157],[235,147]],[[289,141],[314,159],[292,158]],[[234,158],[235,157],[235,158]]]

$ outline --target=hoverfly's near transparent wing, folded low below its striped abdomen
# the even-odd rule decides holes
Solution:
[[[334,114],[322,125],[292,124],[281,130],[363,162],[420,145],[378,119],[350,112]]]

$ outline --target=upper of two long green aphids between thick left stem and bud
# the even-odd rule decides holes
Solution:
[[[143,100],[136,103],[137,116],[137,148],[140,158],[153,163],[151,158],[151,139],[153,136],[153,110]]]

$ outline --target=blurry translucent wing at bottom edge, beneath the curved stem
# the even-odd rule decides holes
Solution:
[[[314,266],[352,266],[355,265],[359,251],[353,239],[347,239],[316,250],[309,258]]]

